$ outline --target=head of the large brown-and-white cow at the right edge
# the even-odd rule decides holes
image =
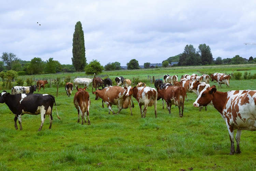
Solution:
[[[196,101],[193,103],[195,107],[199,106],[207,106],[213,99],[213,95],[216,92],[216,86],[213,85],[212,87],[204,88],[199,96],[197,97]]]

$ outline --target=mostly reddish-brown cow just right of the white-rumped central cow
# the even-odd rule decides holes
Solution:
[[[167,86],[165,89],[160,90],[157,88],[157,99],[163,98],[166,101],[169,114],[171,114],[171,106],[179,107],[179,115],[183,116],[184,101],[186,96],[186,89],[180,86]],[[181,109],[182,108],[182,109]],[[182,112],[181,112],[182,110]]]

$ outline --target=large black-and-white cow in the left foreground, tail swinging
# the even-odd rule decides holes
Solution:
[[[52,109],[55,103],[55,98],[53,95],[48,94],[10,94],[4,93],[0,97],[0,103],[5,103],[9,109],[15,115],[14,117],[14,127],[18,129],[17,119],[19,119],[19,129],[22,130],[22,115],[33,114],[38,115],[41,113],[41,125],[38,131],[41,131],[44,124],[45,115],[49,115],[50,126],[52,128],[53,116]],[[59,118],[57,107],[56,107],[57,117]]]

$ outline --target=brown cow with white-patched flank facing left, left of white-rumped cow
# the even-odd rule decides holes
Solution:
[[[96,90],[93,92],[93,94],[96,95],[95,100],[98,100],[101,98],[103,102],[106,104],[106,106],[109,108],[109,114],[110,111],[115,114],[115,112],[112,110],[112,105],[118,106],[117,114],[122,109],[130,108],[131,115],[132,115],[132,107],[134,107],[134,104],[131,105],[131,93],[129,96],[126,96],[127,93],[127,87],[119,87],[119,86],[109,86],[105,87],[102,90]]]

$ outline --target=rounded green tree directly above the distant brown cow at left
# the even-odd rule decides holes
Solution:
[[[39,74],[44,72],[44,62],[41,58],[33,58],[27,67],[28,74]]]

